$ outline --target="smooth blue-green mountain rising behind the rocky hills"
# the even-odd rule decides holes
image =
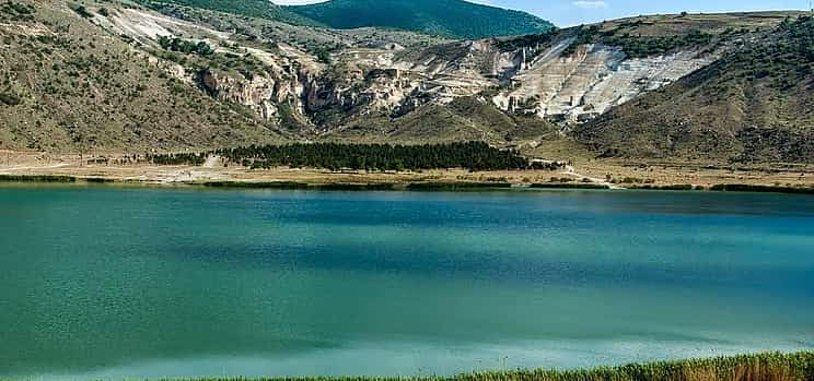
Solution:
[[[332,0],[287,10],[339,29],[376,26],[453,38],[523,35],[554,26],[525,12],[463,0]]]

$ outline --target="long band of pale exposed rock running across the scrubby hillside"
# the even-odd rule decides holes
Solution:
[[[503,51],[498,40],[482,39],[420,51],[397,44],[357,46],[334,53],[335,64],[328,67],[286,44],[277,44],[275,51],[241,46],[241,39],[230,33],[151,11],[124,9],[97,19],[113,34],[126,34],[153,48],[160,35],[196,36],[219,52],[254,56],[266,73],[244,78],[207,72],[202,82],[201,73],[188,68],[154,57],[150,63],[188,83],[202,84],[221,100],[248,106],[267,120],[279,118],[282,104],[300,112],[303,120],[328,108],[399,116],[422,104],[445,104],[489,91],[491,102],[504,111],[584,121],[716,59],[696,51],[629,59],[619,48],[602,45],[580,46],[565,55],[573,38]]]

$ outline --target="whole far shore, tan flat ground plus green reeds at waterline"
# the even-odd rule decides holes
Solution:
[[[100,159],[104,158],[104,160]],[[200,165],[156,165],[127,155],[26,152],[0,155],[0,183],[79,183],[338,191],[641,190],[814,194],[814,165],[741,166],[687,162],[578,159],[559,169],[462,168],[367,171],[251,168],[212,157]]]

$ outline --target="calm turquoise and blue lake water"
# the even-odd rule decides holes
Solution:
[[[0,378],[814,348],[814,197],[0,188]]]

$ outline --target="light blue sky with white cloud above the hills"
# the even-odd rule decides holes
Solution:
[[[272,0],[280,4],[313,3],[319,0]],[[485,4],[519,9],[558,26],[571,26],[639,14],[687,12],[734,12],[807,9],[809,0],[477,0]]]

